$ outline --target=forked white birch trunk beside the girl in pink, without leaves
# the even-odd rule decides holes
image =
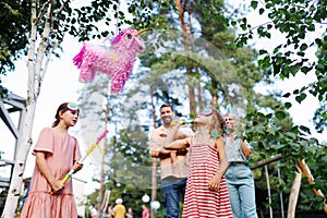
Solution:
[[[44,26],[43,37],[39,41],[39,47],[36,50],[36,38],[37,38],[37,1],[33,0],[31,3],[31,41],[28,48],[28,83],[27,83],[27,100],[26,100],[26,120],[24,121],[24,128],[22,132],[21,145],[19,145],[19,153],[16,156],[11,184],[9,187],[9,193],[5,199],[4,209],[1,218],[13,218],[15,217],[15,211],[17,208],[17,203],[21,196],[21,189],[23,184],[23,174],[26,167],[26,159],[31,146],[33,145],[32,141],[32,130],[33,122],[35,117],[36,102],[40,90],[43,76],[41,72],[46,72],[47,68],[43,66],[43,60],[46,56],[46,47],[48,44],[48,37],[50,34],[50,22],[52,20],[52,2],[48,2],[46,16],[46,22]],[[43,13],[43,12],[41,12]],[[36,52],[37,51],[37,52]],[[49,53],[48,56],[51,56]],[[46,59],[45,66],[48,65]]]

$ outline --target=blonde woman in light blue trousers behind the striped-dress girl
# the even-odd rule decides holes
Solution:
[[[229,162],[225,174],[234,218],[257,218],[255,189],[247,158],[252,147],[241,140],[241,125],[234,114],[225,116],[228,134],[225,137],[225,150]]]

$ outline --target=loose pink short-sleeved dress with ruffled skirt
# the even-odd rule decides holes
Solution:
[[[45,152],[46,161],[56,179],[62,180],[81,159],[77,141],[68,133],[45,128],[33,150]],[[21,218],[74,218],[77,217],[72,180],[68,180],[60,194],[51,194],[51,186],[35,166],[31,189]]]

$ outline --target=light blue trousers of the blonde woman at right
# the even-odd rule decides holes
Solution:
[[[230,165],[225,178],[234,218],[257,218],[254,181],[247,165]]]

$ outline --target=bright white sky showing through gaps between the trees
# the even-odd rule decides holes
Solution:
[[[262,22],[255,19],[256,16],[250,16],[253,22]],[[279,38],[282,37],[278,34],[272,35],[272,39],[256,39],[256,47],[267,48],[269,45],[274,48],[277,45]],[[101,43],[100,40],[94,43]],[[77,90],[83,87],[83,83],[78,82],[78,70],[73,64],[73,57],[82,48],[82,43],[78,43],[77,39],[68,37],[62,45],[64,52],[61,55],[60,59],[52,58],[51,63],[49,64],[48,71],[46,73],[45,80],[41,85],[40,95],[37,100],[36,114],[33,125],[33,141],[36,142],[40,130],[45,126],[50,126],[55,120],[55,113],[58,106],[65,101],[77,101],[78,94]],[[27,66],[26,58],[16,62],[16,71],[8,73],[8,76],[3,76],[3,85],[8,87],[15,95],[25,97],[27,90]],[[276,86],[269,88],[280,88],[283,92],[293,90],[294,87],[298,87],[300,84],[307,84],[308,81],[314,80],[314,76],[303,76],[296,75],[296,77],[291,77],[288,81],[279,81]],[[257,87],[261,92],[267,92],[267,87]],[[304,124],[312,126],[312,118],[314,114],[314,109],[318,106],[318,101],[314,98],[305,100],[303,104],[299,105],[293,100],[293,106],[290,109],[294,122],[298,124]],[[70,132],[77,137],[81,143],[82,154],[85,154],[86,148],[89,146],[83,141],[81,135],[80,125],[70,129]],[[0,123],[0,150],[3,150],[4,154],[2,157],[4,159],[13,158],[13,149],[8,147],[8,145],[14,145],[14,138],[11,136],[9,131],[3,126],[3,123]],[[5,135],[5,136],[4,136]],[[315,133],[313,135],[322,141],[327,141],[326,132],[323,134]],[[31,149],[32,150],[32,149]],[[31,154],[27,158],[26,170],[24,177],[31,177],[34,168],[34,156]],[[84,168],[82,171],[75,174],[77,179],[86,181],[85,192],[86,194],[90,193],[95,187],[98,187],[97,183],[92,182],[92,175],[89,172],[97,173],[98,168],[93,162],[92,158],[86,158],[84,162]],[[1,172],[0,172],[1,173]]]

